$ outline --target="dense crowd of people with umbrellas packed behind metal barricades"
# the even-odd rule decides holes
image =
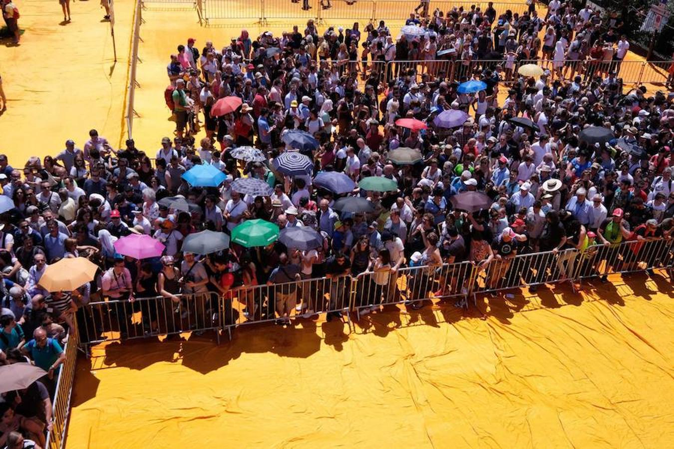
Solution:
[[[359,313],[367,314],[393,294],[410,299],[410,308],[423,307],[432,289],[442,296],[445,279],[434,279],[434,268],[443,264],[468,262],[494,282],[516,254],[547,251],[561,258],[568,248],[671,239],[674,95],[622,85],[615,71],[629,44],[619,37],[619,20],[602,20],[587,7],[574,11],[558,0],[539,18],[531,5],[520,17],[497,15],[491,5],[427,18],[412,13],[407,26],[421,32],[395,41],[383,22],[365,26],[362,34],[359,24],[319,34],[311,21],[303,33],[295,26],[278,37],[265,32],[251,40],[244,30],[222,50],[212,42],[197,50],[188,39],[167,67],[166,102],[177,128],[159,149],[138,149],[133,139],[116,149],[92,129],[81,149],[68,140],[63,151],[42,160],[0,155],[0,205],[6,204],[0,215],[0,362],[32,361],[46,372],[28,388],[0,396],[0,446],[24,447],[17,446],[24,438],[35,447],[44,444],[64,339],[75,322],[92,325],[82,311],[90,302],[164,298],[155,303],[162,315],[180,322],[190,318],[181,293],[212,293],[237,298],[247,320],[292,325],[291,318],[326,309],[317,304],[325,298],[321,293],[334,302],[348,291],[346,279],[363,273],[371,284],[359,287],[357,296]],[[601,56],[601,73],[565,77],[565,59],[596,58],[592,49],[609,46],[615,51]],[[404,63],[386,73],[376,64],[434,61],[440,52],[456,61],[497,52],[503,65],[460,62],[464,69],[450,74]],[[499,97],[508,61],[546,56],[555,61],[554,81],[547,69],[539,76],[508,73],[513,81],[506,98]],[[484,87],[462,92],[467,81]],[[220,100],[232,97],[240,106],[212,116]],[[444,120],[461,114],[458,123]],[[206,133],[199,137],[202,126]],[[607,134],[585,137],[595,129]],[[307,145],[286,138],[293,130],[305,131],[300,135],[308,136]],[[233,155],[244,147],[262,157]],[[295,151],[310,167],[289,175],[274,161]],[[223,172],[224,182],[189,184],[183,176],[200,165]],[[335,191],[317,182],[331,172],[353,185]],[[371,177],[389,187],[359,187]],[[241,194],[233,188],[239,178],[261,180],[269,195]],[[464,193],[489,202],[475,211],[453,207]],[[368,206],[344,211],[336,207],[344,197]],[[189,208],[163,199],[184,199]],[[247,247],[232,240],[211,254],[182,250],[190,234],[233,234],[252,219],[280,230],[313,228],[321,244],[300,250],[292,242]],[[131,234],[158,240],[162,254],[123,256],[115,242]],[[40,285],[49,265],[78,257],[100,268],[90,283],[73,291]],[[561,269],[570,264],[557,262]],[[394,273],[413,266],[428,267],[419,271],[426,287],[415,290],[409,286],[419,283],[408,282],[412,291],[390,288]],[[306,279],[330,279],[332,286],[318,294],[278,290],[266,298],[251,290]],[[468,279],[474,277],[462,276],[462,289],[470,289]],[[216,320],[217,304],[204,300],[204,320]],[[168,331],[153,307],[142,312],[146,331]],[[116,330],[128,333],[137,311],[113,307]],[[340,312],[332,310],[328,319],[334,318]]]

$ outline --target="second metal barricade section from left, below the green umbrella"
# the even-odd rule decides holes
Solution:
[[[237,326],[288,322],[329,312],[346,312],[350,320],[351,296],[350,276],[242,286],[222,296],[223,324],[231,335]]]

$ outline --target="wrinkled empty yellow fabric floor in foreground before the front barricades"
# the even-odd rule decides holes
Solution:
[[[577,295],[111,343],[80,361],[73,448],[671,448],[669,279]],[[658,293],[659,291],[660,293]],[[90,371],[92,364],[95,369]]]

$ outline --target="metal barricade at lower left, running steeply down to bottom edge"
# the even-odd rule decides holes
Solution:
[[[75,364],[78,358],[78,329],[72,326],[68,331],[68,341],[63,347],[65,361],[59,370],[54,399],[52,401],[52,429],[47,433],[45,448],[63,449],[65,446],[65,430],[70,416],[70,399],[75,380]]]

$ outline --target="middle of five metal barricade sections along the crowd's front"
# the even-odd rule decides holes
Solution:
[[[379,310],[387,304],[449,298],[462,298],[462,305],[466,305],[472,273],[470,262],[361,273],[353,278],[351,308],[362,314],[361,311]]]

